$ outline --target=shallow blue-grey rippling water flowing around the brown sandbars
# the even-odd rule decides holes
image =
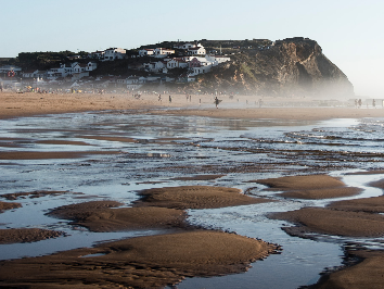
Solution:
[[[137,192],[154,187],[188,185],[240,188],[252,196],[277,200],[264,204],[190,210],[189,222],[220,228],[282,246],[281,254],[253,263],[242,274],[188,278],[177,288],[297,288],[315,284],[320,273],[340,266],[347,242],[382,247],[383,240],[315,236],[291,237],[286,222],[269,212],[323,206],[331,200],[283,199],[252,180],[305,174],[330,174],[362,192],[351,198],[381,196],[369,187],[384,175],[348,173],[383,167],[384,118],[299,122],[151,115],[121,112],[46,115],[0,121],[0,151],[119,151],[76,159],[0,160],[0,193],[65,191],[16,200],[23,208],[0,214],[0,228],[48,228],[66,237],[33,243],[0,246],[0,260],[36,256],[115,240],[162,234],[159,230],[90,233],[68,221],[46,215],[49,210],[92,200],[116,200],[127,206]],[[135,142],[128,141],[133,139]],[[69,144],[57,141],[77,141]],[[212,180],[180,180],[218,174]],[[2,200],[3,201],[3,200]]]

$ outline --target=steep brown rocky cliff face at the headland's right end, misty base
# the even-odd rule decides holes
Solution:
[[[354,87],[346,75],[323,53],[313,40],[278,40],[263,50],[243,50],[231,62],[199,77],[206,89],[220,89],[268,96],[347,98]]]

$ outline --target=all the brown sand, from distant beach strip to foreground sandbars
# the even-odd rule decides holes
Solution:
[[[215,108],[213,96],[163,96],[143,95],[135,99],[129,95],[43,95],[0,93],[0,120],[75,113],[88,111],[114,111],[135,114],[145,112],[158,115],[196,115],[228,118],[280,118],[321,121],[332,118],[383,117],[384,110],[355,108],[315,108],[310,100],[295,100],[303,106],[246,105],[229,109],[233,103],[246,102],[251,97],[223,99]],[[225,97],[222,97],[225,98]],[[226,97],[228,98],[228,97]],[[238,100],[239,99],[239,100]],[[267,103],[283,103],[286,100],[270,99]],[[99,139],[135,142],[137,139],[108,136],[84,136],[84,139]],[[7,138],[5,138],[7,140]],[[4,147],[16,146],[5,143]],[[165,144],[171,138],[164,138]],[[5,141],[7,142],[7,141]],[[0,160],[49,160],[76,159],[82,155],[114,155],[118,150],[94,151],[82,141],[41,140],[40,143],[89,146],[88,151],[63,152],[12,152],[0,151]],[[0,146],[1,147],[1,146]],[[17,146],[16,146],[17,147]],[[382,171],[372,174],[382,174]],[[363,174],[363,173],[362,173]],[[192,176],[179,179],[215,179],[222,175]],[[266,191],[277,191],[280,198],[321,200],[356,196],[359,188],[347,187],[338,178],[328,175],[287,176],[270,179],[255,179],[253,183],[266,186]],[[383,188],[383,181],[370,184]],[[1,194],[7,202],[0,202],[0,213],[17,210],[21,198],[61,194],[66,191],[31,191]],[[33,197],[31,197],[33,196]],[[28,288],[158,288],[177,284],[185,277],[215,276],[246,271],[252,262],[263,260],[279,251],[279,247],[263,240],[242,237],[216,230],[203,230],[190,226],[185,221],[189,209],[214,209],[270,202],[270,198],[248,197],[235,188],[209,186],[179,186],[144,190],[132,208],[124,208],[116,201],[93,201],[52,208],[47,215],[71,221],[72,224],[90,231],[124,231],[130,229],[168,229],[159,236],[139,237],[106,242],[93,248],[82,248],[61,253],[0,261],[0,287]],[[123,206],[123,208],[120,208]],[[292,236],[308,238],[307,234],[325,234],[353,237],[384,236],[384,201],[382,197],[331,202],[325,208],[303,208],[297,211],[271,214],[271,218],[284,219],[294,226],[284,227]],[[30,242],[55,238],[60,231],[42,229],[1,229],[0,242]],[[359,262],[345,269],[323,277],[313,288],[381,288],[379,278],[384,269],[382,251],[350,252]],[[89,257],[82,257],[88,256]],[[94,255],[94,256],[93,256]],[[127,261],[128,260],[128,261]],[[16,273],[17,272],[17,273]],[[114,277],[112,277],[114,276]],[[379,277],[377,277],[379,276]],[[85,286],[87,285],[87,287]]]

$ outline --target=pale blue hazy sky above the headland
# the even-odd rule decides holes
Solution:
[[[383,0],[0,0],[0,58],[159,41],[303,36],[355,86],[384,99]]]

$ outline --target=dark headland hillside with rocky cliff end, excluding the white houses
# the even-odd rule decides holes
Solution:
[[[90,72],[93,79],[98,76],[119,76],[123,79],[129,76],[145,78],[155,75],[157,77],[157,80],[150,80],[146,84],[143,80],[140,84],[143,84],[141,90],[157,90],[161,85],[161,90],[187,93],[223,91],[260,97],[295,96],[328,99],[354,97],[354,87],[346,75],[322,53],[321,47],[315,40],[308,38],[295,37],[274,42],[269,39],[202,39],[189,43],[201,43],[207,54],[227,55],[230,61],[212,66],[210,72],[199,74],[195,76],[195,81],[191,83],[187,83],[187,76],[193,72],[192,68],[169,68],[164,73],[162,70],[150,71],[144,65],[157,62],[159,59],[150,55],[139,56],[140,49],[158,47],[171,49],[179,47],[175,49],[174,54],[168,55],[169,59],[189,55],[187,50],[180,49],[178,41],[164,41],[127,50],[124,59],[114,61],[90,59],[88,52],[80,51],[75,54],[66,50],[22,52],[16,59],[0,59],[0,65],[17,65],[23,71],[47,71],[59,67],[62,63],[71,65],[76,61],[76,63],[87,64],[93,61],[98,66]],[[64,85],[72,85],[71,77],[72,75],[67,77],[68,80]],[[167,78],[174,80],[166,80]],[[26,84],[28,79],[24,77],[23,80]],[[115,83],[112,83],[112,86],[117,87]],[[125,89],[127,85],[120,83],[119,87]]]

